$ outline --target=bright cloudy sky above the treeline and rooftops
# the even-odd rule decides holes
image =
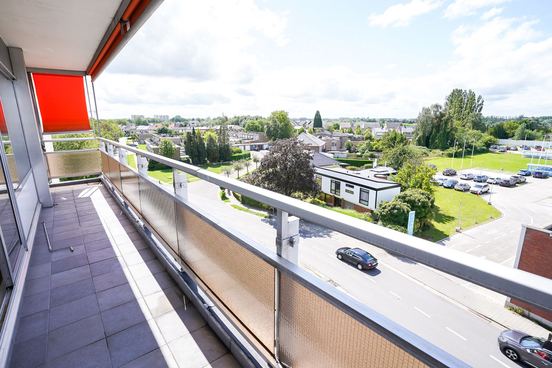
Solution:
[[[165,0],[94,86],[100,118],[552,115],[552,1]]]

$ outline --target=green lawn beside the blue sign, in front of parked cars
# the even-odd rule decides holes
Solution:
[[[474,158],[475,161],[475,158]],[[432,227],[422,231],[419,236],[424,239],[438,242],[452,234],[458,224],[458,211],[462,201],[460,214],[460,227],[462,230],[473,227],[477,223],[483,223],[497,218],[500,212],[491,205],[487,205],[484,198],[471,193],[463,193],[454,189],[438,187],[435,191],[435,206],[433,211]]]

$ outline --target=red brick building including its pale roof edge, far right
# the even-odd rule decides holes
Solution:
[[[552,279],[551,251],[552,225],[546,228],[522,225],[514,268]],[[506,305],[522,308],[530,318],[552,327],[552,313],[511,298],[506,299]]]

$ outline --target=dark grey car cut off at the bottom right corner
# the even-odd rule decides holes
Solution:
[[[533,367],[552,365],[552,342],[518,330],[498,335],[498,347],[509,360],[523,361]]]

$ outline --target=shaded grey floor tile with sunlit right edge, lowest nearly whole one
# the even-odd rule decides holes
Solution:
[[[111,335],[107,338],[107,344],[114,367],[119,367],[165,345],[153,319]]]

